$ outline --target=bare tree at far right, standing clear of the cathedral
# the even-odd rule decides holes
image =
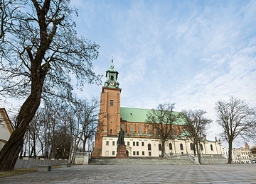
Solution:
[[[223,128],[222,137],[228,142],[228,163],[232,163],[233,141],[255,139],[256,112],[244,100],[230,96],[229,101],[218,101],[215,107],[218,124]]]

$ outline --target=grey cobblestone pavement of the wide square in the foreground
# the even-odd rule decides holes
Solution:
[[[256,164],[85,165],[9,176],[0,183],[256,183]]]

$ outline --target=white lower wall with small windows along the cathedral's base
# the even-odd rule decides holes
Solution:
[[[124,138],[129,156],[159,156],[160,139],[146,138]],[[169,144],[172,144],[172,149],[169,149]],[[151,150],[148,149],[148,144],[151,144]],[[181,144],[183,149],[181,149]],[[189,139],[168,139],[165,142],[166,154],[193,154],[191,150],[191,141]],[[201,142],[203,150],[201,154],[223,154],[222,145],[219,142]],[[212,149],[210,147],[212,145]],[[117,154],[117,137],[102,138],[102,156],[113,156]]]

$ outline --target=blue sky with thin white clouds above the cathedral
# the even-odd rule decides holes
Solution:
[[[206,110],[212,140],[220,133],[218,100],[235,96],[256,107],[256,1],[71,3],[78,35],[100,45],[93,63],[102,85],[114,61],[122,107],[175,103],[176,111]],[[100,98],[102,85],[85,85],[82,96]]]

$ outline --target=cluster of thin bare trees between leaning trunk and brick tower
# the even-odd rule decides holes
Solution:
[[[69,159],[74,163],[77,151],[92,151],[99,100],[73,100],[46,102],[38,108],[24,136],[20,157]]]

